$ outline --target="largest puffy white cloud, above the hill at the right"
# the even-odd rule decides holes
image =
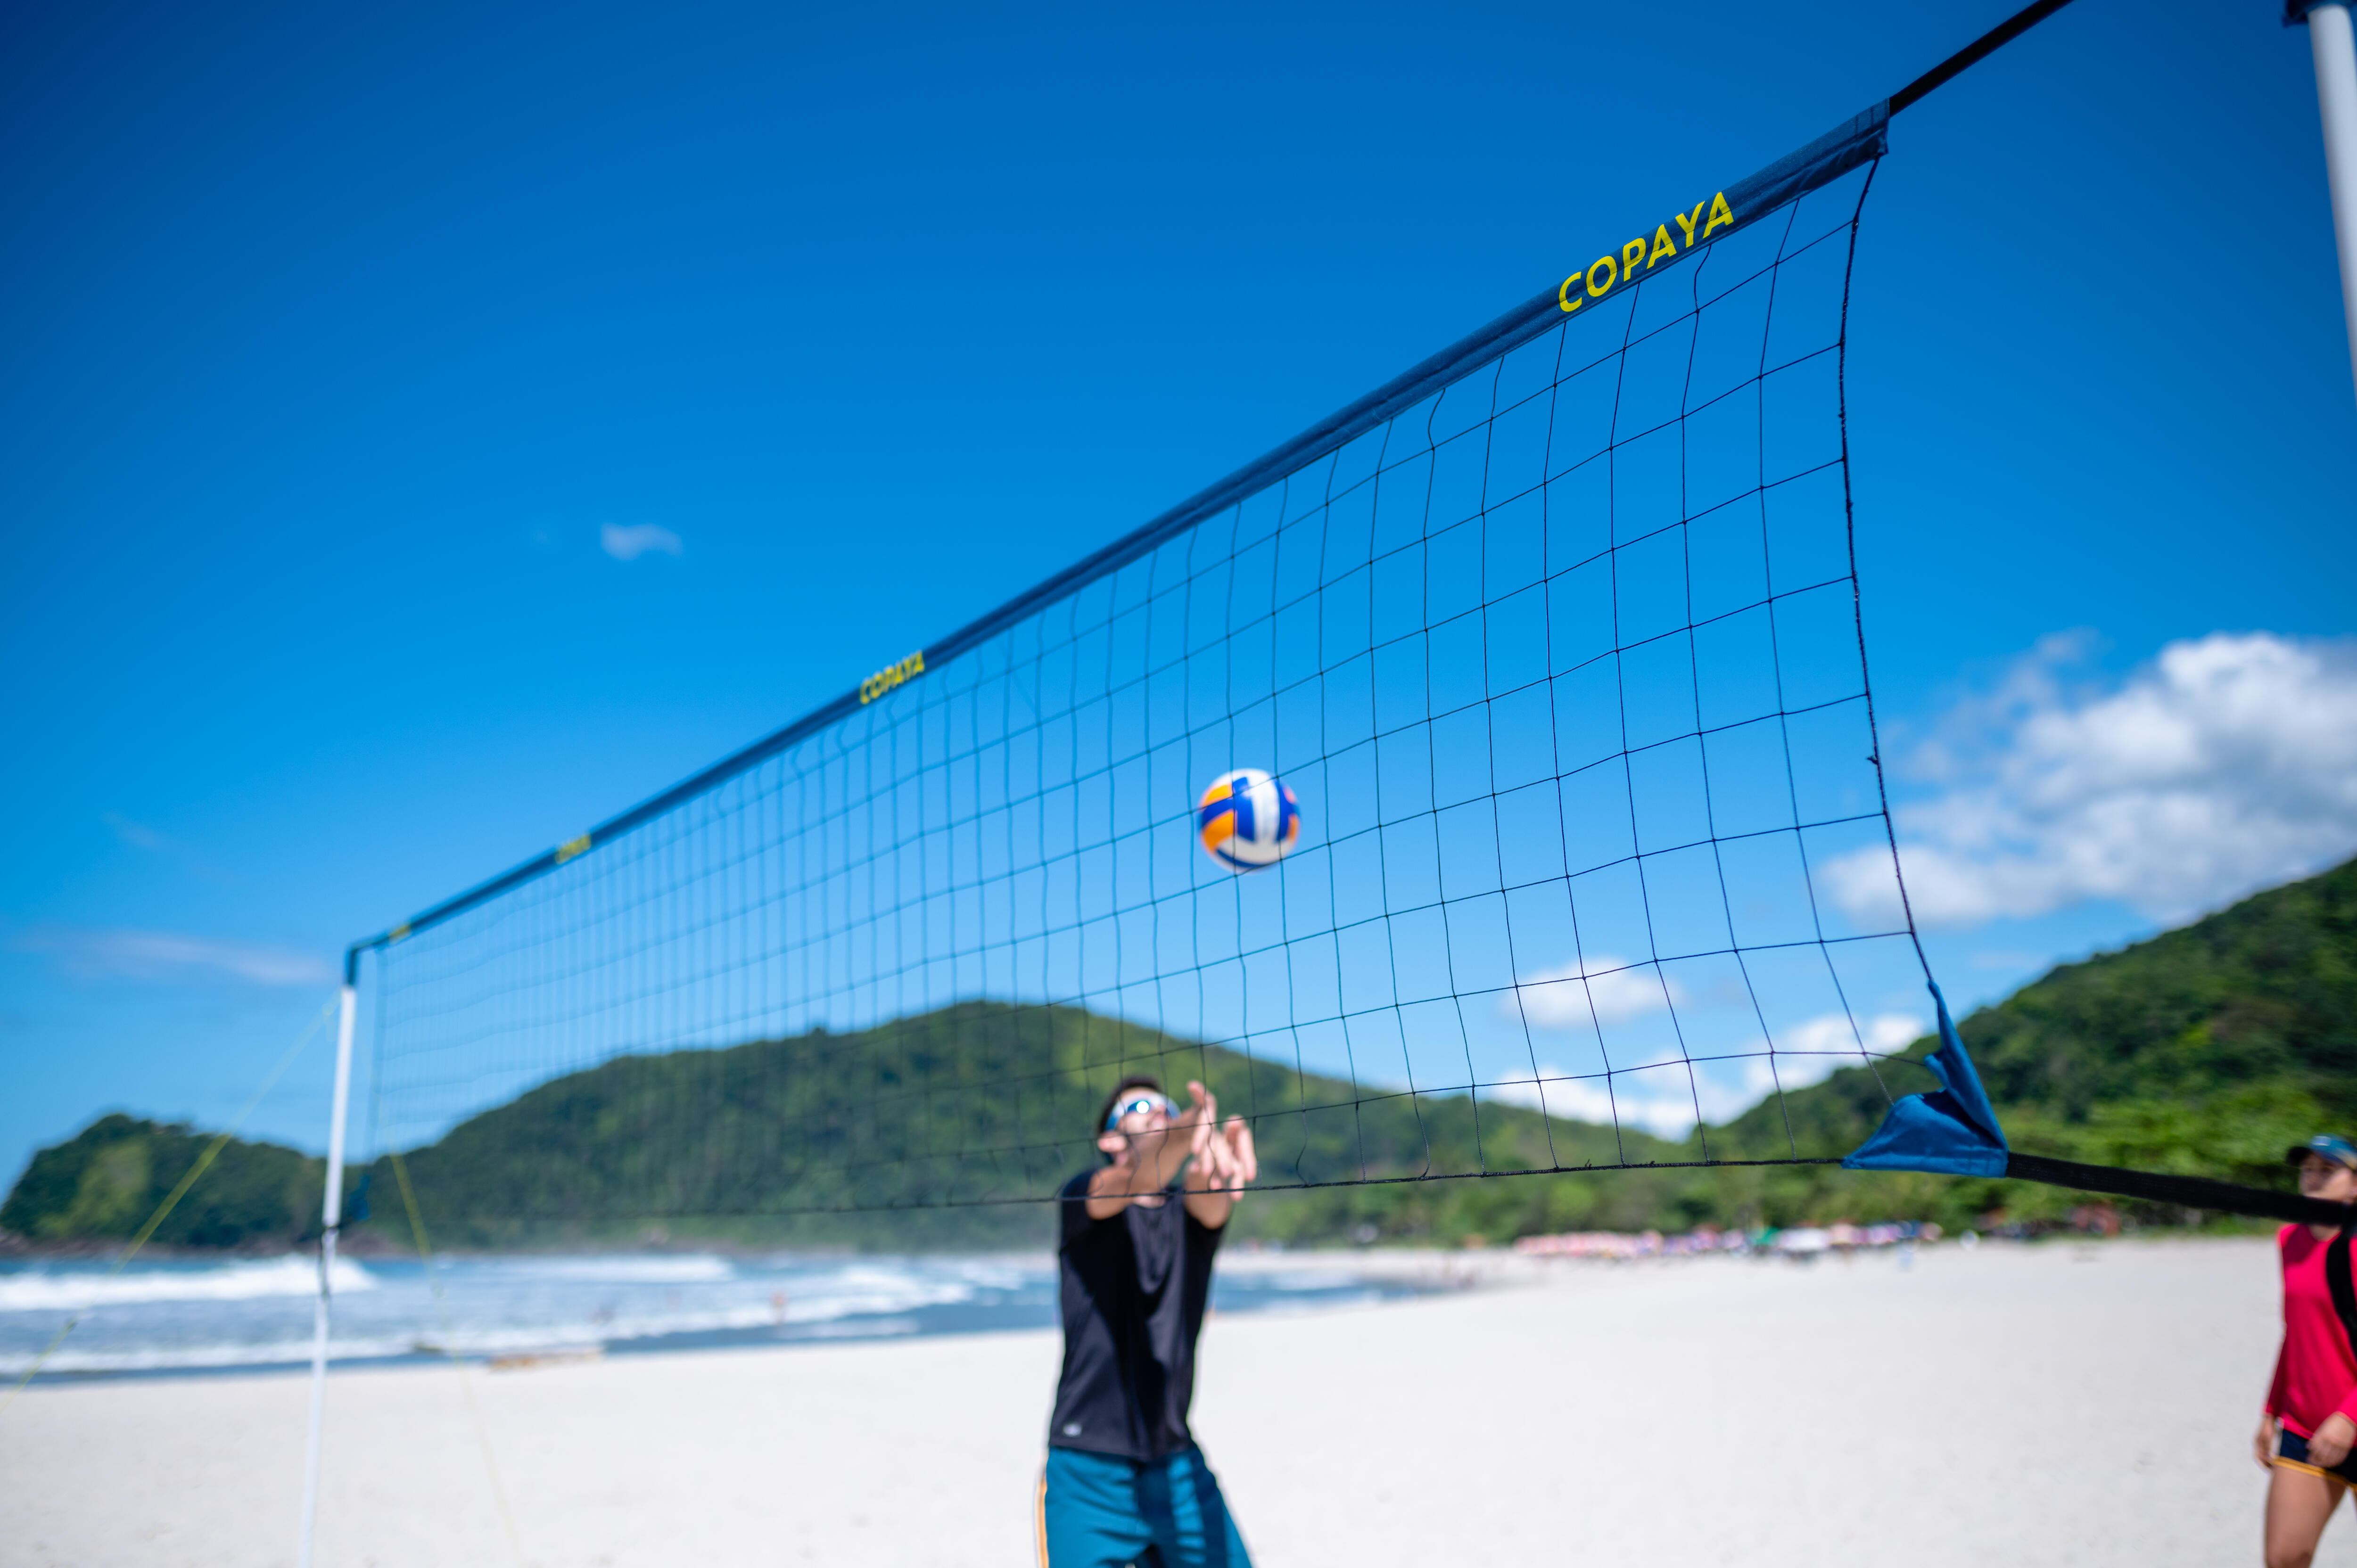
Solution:
[[[1926,927],[2117,898],[2185,920],[2357,851],[2357,646],[2267,632],[2173,641],[2126,681],[2072,686],[2048,637],[1907,759],[1900,806]],[[1888,851],[1829,865],[1853,917],[1895,917]]]

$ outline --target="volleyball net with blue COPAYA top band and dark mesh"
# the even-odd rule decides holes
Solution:
[[[448,1214],[1042,1200],[1146,1073],[1249,1118],[1261,1186],[1838,1158],[1784,1094],[1928,1030],[1843,422],[1881,151],[1874,111],[1683,193],[361,943],[363,1148]],[[1237,769],[1299,802],[1252,872],[1197,804]]]

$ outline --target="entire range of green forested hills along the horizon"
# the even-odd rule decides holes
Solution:
[[[2029,1153],[2286,1184],[2282,1151],[2357,1127],[2357,863],[2279,887],[2121,953],[2065,964],[1961,1023],[2011,1141]],[[1047,1191],[1094,1158],[1087,1125],[1124,1063],[1202,1078],[1259,1118],[1263,1179],[1336,1181],[1579,1162],[1843,1151],[1888,1094],[1930,1087],[1916,1061],[1850,1068],[1688,1144],[1549,1120],[1464,1096],[1348,1106],[1336,1080],[1169,1040],[1077,1009],[966,1004],[889,1033],[801,1035],[625,1056],[526,1092],[410,1153],[438,1243],[691,1236],[893,1247],[1037,1245],[1039,1205],[783,1217]],[[1025,1075],[1016,1082],[1016,1063]],[[1303,1106],[1310,1106],[1303,1111]],[[1332,1106],[1332,1108],[1318,1108]],[[1480,1141],[1475,1146],[1475,1118]],[[780,1129],[794,1129],[780,1137]],[[108,1115],[45,1148],[0,1207],[35,1240],[127,1236],[203,1139]],[[1480,1151],[1480,1155],[1475,1153]],[[915,1158],[915,1155],[926,1158]],[[356,1174],[358,1179],[358,1174]],[[295,1240],[316,1228],[318,1162],[231,1144],[158,1233],[181,1245]],[[370,1226],[408,1245],[389,1162]],[[2084,1198],[2018,1181],[1798,1170],[1598,1170],[1261,1193],[1244,1236],[1508,1238],[1560,1228],[1916,1217],[2041,1219]]]

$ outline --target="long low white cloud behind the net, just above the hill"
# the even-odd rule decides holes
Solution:
[[[1853,1030],[1850,1016],[1836,1012],[1780,1030],[1775,1059],[1768,1056],[1765,1040],[1754,1040],[1747,1049],[1758,1052],[1756,1056],[1697,1063],[1692,1082],[1685,1070],[1664,1068],[1617,1073],[1605,1080],[1565,1078],[1563,1068],[1541,1066],[1541,1082],[1499,1085],[1492,1094],[1523,1106],[1544,1106],[1549,1115],[1600,1127],[1617,1120],[1659,1139],[1683,1139],[1695,1127],[1697,1101],[1704,1122],[1725,1125],[1777,1089],[1805,1089],[1831,1078],[1836,1068],[1857,1066],[1860,1042],[1876,1056],[1888,1056],[1914,1045],[1923,1030],[1923,1019],[1895,1012],[1862,1019]]]

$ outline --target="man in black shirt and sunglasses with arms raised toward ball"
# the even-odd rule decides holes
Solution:
[[[1252,1568],[1186,1415],[1211,1257],[1244,1184],[1252,1127],[1219,1125],[1200,1082],[1178,1108],[1124,1078],[1098,1115],[1105,1165],[1065,1181],[1063,1375],[1039,1478],[1047,1568]]]

